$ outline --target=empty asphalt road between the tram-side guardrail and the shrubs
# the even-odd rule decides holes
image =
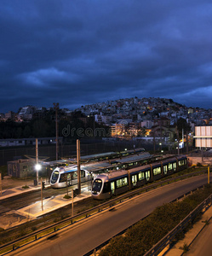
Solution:
[[[155,207],[173,201],[176,197],[207,183],[206,175],[192,177],[178,183],[158,188],[123,202],[113,211],[100,212],[86,221],[73,224],[58,232],[54,239],[43,239],[37,245],[24,247],[9,255],[72,255],[82,256],[102,242],[146,217]]]

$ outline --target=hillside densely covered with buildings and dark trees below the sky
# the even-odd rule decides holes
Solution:
[[[0,138],[54,137],[55,109],[21,107],[1,113]],[[105,137],[173,143],[195,126],[212,125],[212,110],[189,108],[166,98],[126,98],[57,111],[60,137]],[[9,132],[9,124],[14,125]],[[11,128],[11,127],[10,127]],[[69,132],[67,131],[69,129]],[[80,134],[79,131],[80,130]],[[98,132],[95,132],[98,131]]]

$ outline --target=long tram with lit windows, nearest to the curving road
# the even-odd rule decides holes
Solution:
[[[186,168],[186,156],[179,155],[146,166],[138,166],[128,171],[102,173],[95,177],[91,195],[94,199],[104,200]]]

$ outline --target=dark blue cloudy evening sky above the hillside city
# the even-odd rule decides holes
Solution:
[[[1,0],[0,112],[127,97],[212,108],[207,0]]]

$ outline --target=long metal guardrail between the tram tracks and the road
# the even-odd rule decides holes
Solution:
[[[124,200],[127,200],[135,195],[140,195],[142,192],[146,192],[150,189],[156,189],[160,186],[169,184],[171,182],[175,182],[176,180],[181,180],[181,179],[185,179],[186,177],[193,177],[193,176],[197,176],[200,175],[201,173],[205,173],[207,171],[200,171],[200,172],[192,172],[192,173],[188,173],[179,177],[173,177],[170,179],[165,179],[161,182],[157,182],[157,183],[153,183],[151,185],[148,185],[146,187],[142,187],[140,189],[134,189],[132,191],[130,191],[129,193],[125,194],[125,195],[120,195],[120,196],[116,196],[114,199],[105,202],[103,204],[100,204],[100,206],[97,207],[93,207],[89,210],[86,210],[84,212],[78,213],[77,215],[70,217],[70,218],[66,218],[64,220],[61,220],[60,222],[57,222],[56,224],[51,224],[45,228],[43,228],[42,230],[37,230],[32,232],[31,234],[28,234],[26,236],[22,236],[20,238],[15,239],[14,241],[9,241],[6,244],[0,245],[0,255],[5,255],[6,253],[10,253],[11,251],[14,251],[15,249],[19,248],[19,247],[23,247],[26,246],[27,244],[29,244],[30,242],[33,241],[37,241],[38,239],[41,239],[45,236],[49,236],[61,229],[66,228],[67,226],[70,226],[74,223],[76,223],[79,220],[82,220],[84,218],[88,218],[89,216],[97,213],[97,212],[101,212],[103,210],[106,210],[107,208],[110,207],[114,207],[115,205],[117,205],[118,203],[121,203]],[[104,243],[105,244],[105,243]]]

